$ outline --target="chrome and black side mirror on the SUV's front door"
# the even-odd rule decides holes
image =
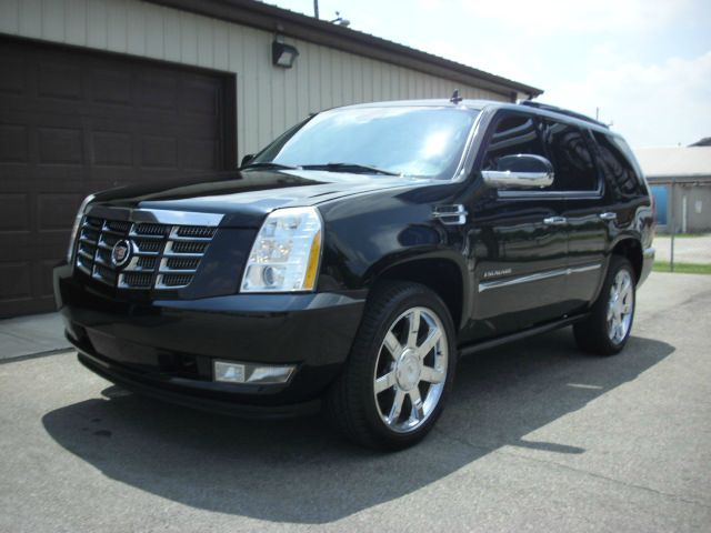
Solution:
[[[517,153],[500,158],[497,170],[482,170],[481,177],[492,189],[542,189],[553,184],[553,165],[540,155]]]

